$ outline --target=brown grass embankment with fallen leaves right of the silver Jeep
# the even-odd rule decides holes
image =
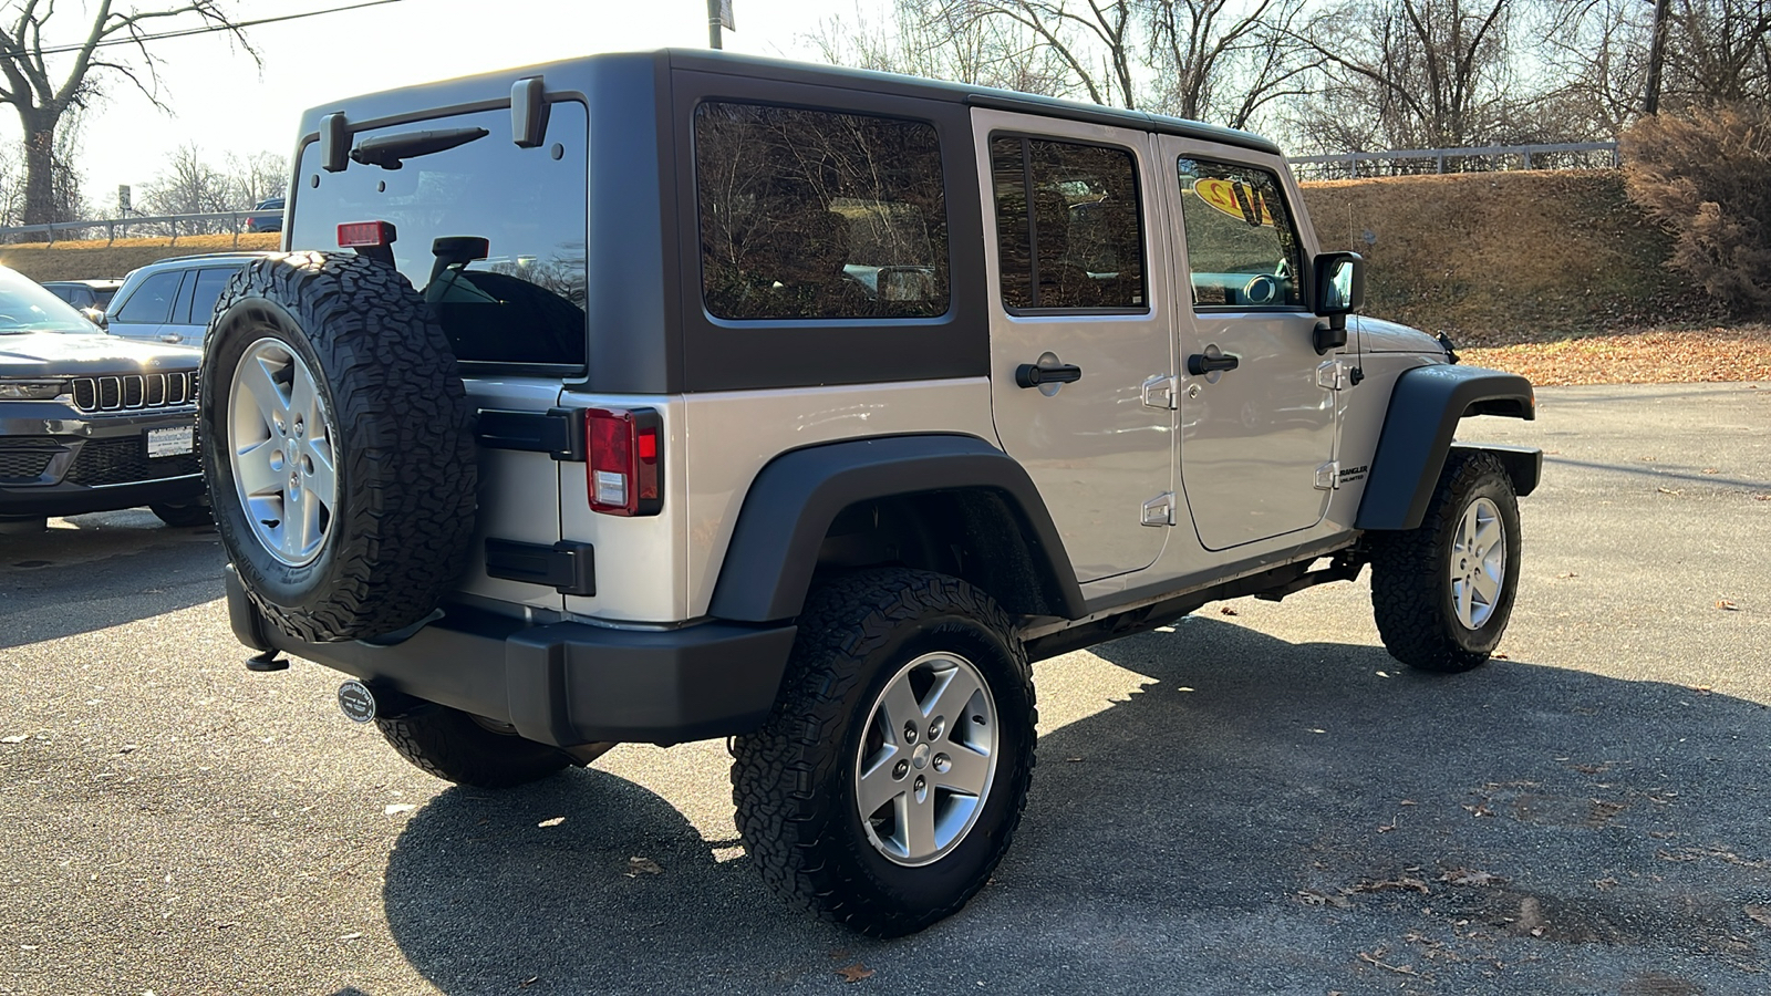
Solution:
[[[1537,385],[1771,379],[1771,328],[1721,324],[1613,170],[1312,183],[1303,198],[1323,246],[1369,261],[1369,314],[1445,331],[1470,363]]]

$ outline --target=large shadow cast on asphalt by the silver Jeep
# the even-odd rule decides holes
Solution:
[[[857,964],[946,992],[1762,991],[1766,707],[1206,617],[1093,654],[1118,700],[1041,737],[994,884],[919,936],[816,923],[584,771],[414,813],[393,938],[445,992],[822,992]],[[1100,670],[1043,665],[1041,695]]]

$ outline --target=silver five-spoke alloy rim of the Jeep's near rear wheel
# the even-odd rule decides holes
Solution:
[[[898,865],[939,861],[978,822],[995,780],[997,712],[976,665],[923,654],[868,709],[855,806],[868,842]]]

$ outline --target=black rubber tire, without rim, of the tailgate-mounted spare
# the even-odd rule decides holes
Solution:
[[[262,338],[308,365],[336,424],[329,533],[298,567],[253,533],[228,463],[228,392],[243,353]],[[443,328],[391,266],[305,252],[234,276],[209,326],[198,436],[216,532],[264,619],[315,643],[425,619],[468,564],[471,424]]]

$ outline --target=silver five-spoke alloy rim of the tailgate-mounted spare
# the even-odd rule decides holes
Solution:
[[[246,521],[276,560],[312,564],[331,532],[338,471],[313,372],[278,338],[246,347],[228,390],[228,466]]]

